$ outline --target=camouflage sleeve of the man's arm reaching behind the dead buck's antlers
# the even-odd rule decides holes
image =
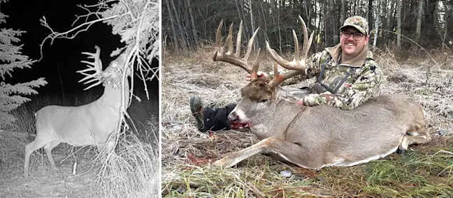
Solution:
[[[318,52],[316,54],[312,54],[310,57],[308,57],[307,61],[305,62],[305,65],[306,65],[305,74],[296,75],[292,78],[289,78],[289,79],[285,80],[284,82],[282,82],[282,84],[280,84],[280,86],[285,86],[285,85],[289,85],[289,84],[297,84],[299,82],[302,82],[305,79],[309,79],[311,77],[319,75],[319,73],[321,73],[321,64],[324,63],[326,61],[326,59],[329,58],[329,56],[330,55],[326,50],[324,50],[322,52]],[[285,74],[290,71],[292,71],[292,70],[287,70],[285,68],[282,68],[281,66],[279,66],[279,68],[278,68],[278,72],[280,74]],[[274,76],[275,75],[274,75],[273,71],[268,73],[269,79],[273,79]]]

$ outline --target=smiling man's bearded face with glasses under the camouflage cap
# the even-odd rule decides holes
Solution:
[[[345,38],[349,36],[349,38]],[[345,26],[340,33],[341,50],[344,54],[357,56],[368,43],[369,36],[365,36],[353,26]]]

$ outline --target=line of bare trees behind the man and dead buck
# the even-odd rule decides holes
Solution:
[[[376,47],[453,47],[453,0],[165,0],[163,40],[167,50],[190,52],[213,43],[221,20],[224,32],[232,22],[237,31],[242,20],[243,45],[259,27],[255,47],[268,40],[282,52],[292,50],[292,29],[301,32],[299,15],[315,31],[315,51],[336,45],[338,29],[352,15],[368,20],[370,45]]]

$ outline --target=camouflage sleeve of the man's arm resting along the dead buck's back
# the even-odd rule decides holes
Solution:
[[[382,80],[382,70],[373,60],[367,61],[361,68],[361,73],[354,82],[348,84],[342,93],[333,95],[326,93],[310,93],[305,96],[303,105],[330,105],[340,109],[354,109],[363,102],[379,94]]]

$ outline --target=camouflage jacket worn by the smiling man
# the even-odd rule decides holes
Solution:
[[[305,75],[297,75],[287,79],[281,85],[296,84],[311,77],[319,77],[322,65],[326,64],[321,82],[329,86],[331,90],[334,90],[340,84],[348,71],[350,71],[349,77],[338,87],[338,91],[335,94],[326,89],[323,91],[312,91],[308,96],[301,98],[303,99],[303,105],[331,105],[340,109],[354,109],[368,100],[368,98],[379,94],[382,70],[374,61],[373,53],[368,51],[368,47],[365,47],[356,59],[345,62],[349,63],[350,66],[342,66],[343,63],[338,65],[340,54],[340,44],[313,54],[306,61]],[[286,69],[279,71],[280,73],[288,72]],[[270,73],[269,77],[272,78],[273,74]],[[313,90],[314,85],[310,85],[310,90]]]

